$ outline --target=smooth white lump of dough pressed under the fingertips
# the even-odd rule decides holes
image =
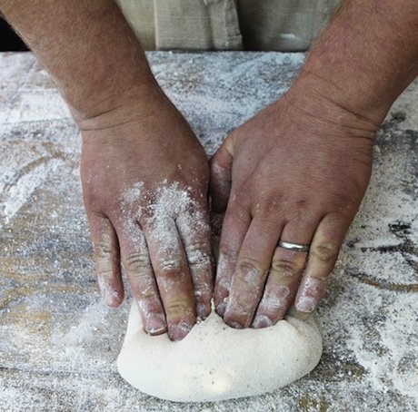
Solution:
[[[134,304],[117,368],[148,395],[216,401],[284,387],[309,373],[321,352],[321,334],[310,316],[294,313],[270,328],[233,329],[213,311],[186,338],[172,342],[166,334],[144,333]]]

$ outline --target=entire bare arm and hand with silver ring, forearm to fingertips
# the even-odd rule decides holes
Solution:
[[[226,214],[214,299],[231,326],[269,326],[293,302],[317,307],[369,181],[374,134],[418,75],[417,11],[413,0],[342,2],[284,98],[215,154],[213,203]]]

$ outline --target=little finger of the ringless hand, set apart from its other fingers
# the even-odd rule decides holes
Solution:
[[[117,307],[124,299],[119,244],[112,223],[96,214],[88,216],[95,252],[97,281],[104,303]]]

